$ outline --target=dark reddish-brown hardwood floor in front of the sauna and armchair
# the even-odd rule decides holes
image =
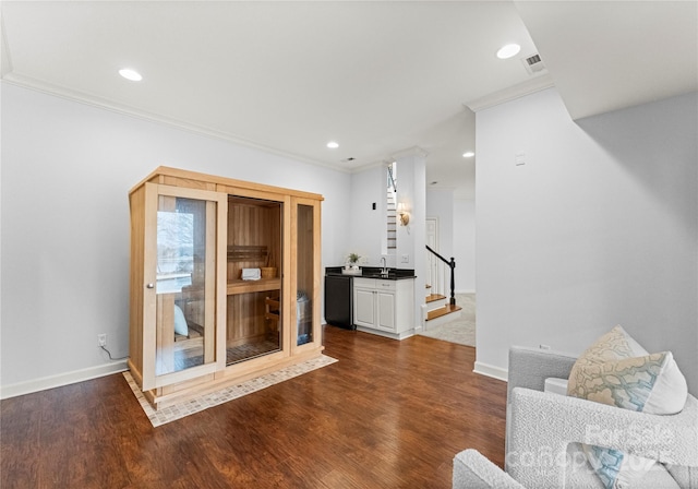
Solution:
[[[325,327],[339,361],[153,428],[122,374],[0,403],[0,487],[449,488],[502,466],[506,384],[474,348]]]

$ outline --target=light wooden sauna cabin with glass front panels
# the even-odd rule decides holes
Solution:
[[[129,193],[129,367],[156,408],[320,356],[322,195],[159,167]]]

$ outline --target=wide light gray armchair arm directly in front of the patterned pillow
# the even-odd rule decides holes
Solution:
[[[512,392],[506,472],[529,487],[563,487],[569,443],[607,446],[665,464],[698,466],[698,401],[658,416],[576,397]]]

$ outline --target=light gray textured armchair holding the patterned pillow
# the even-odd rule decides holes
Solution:
[[[476,450],[454,458],[453,487],[602,488],[579,443],[609,446],[659,461],[634,487],[698,489],[698,401],[658,416],[543,392],[545,379],[564,378],[576,358],[554,351],[509,350],[506,472]]]

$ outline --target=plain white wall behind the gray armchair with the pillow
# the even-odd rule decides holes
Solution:
[[[691,93],[575,122],[549,88],[477,114],[476,370],[621,324],[698,394],[697,109]]]

